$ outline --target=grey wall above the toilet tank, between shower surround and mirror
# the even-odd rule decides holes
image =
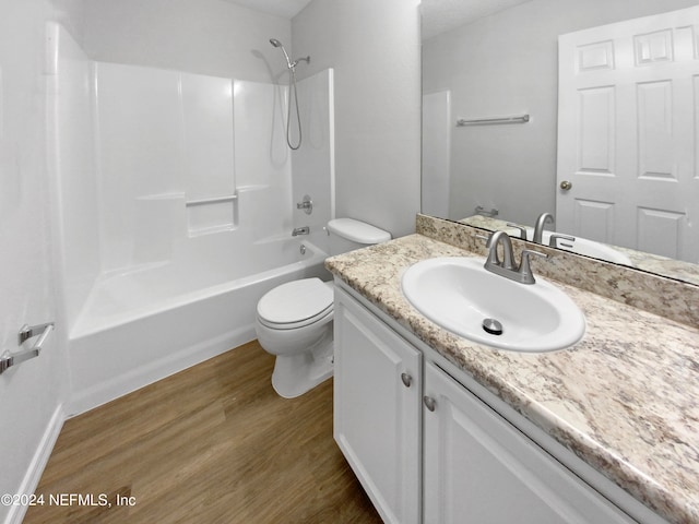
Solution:
[[[419,211],[417,0],[313,0],[293,20],[299,75],[334,69],[336,215],[415,230]]]

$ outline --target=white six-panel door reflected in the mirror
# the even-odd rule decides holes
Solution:
[[[698,38],[699,7],[559,37],[558,230],[699,262]]]

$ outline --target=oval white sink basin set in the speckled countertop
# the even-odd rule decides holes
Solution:
[[[403,274],[403,294],[441,327],[478,344],[514,352],[553,352],[585,332],[582,311],[560,289],[536,277],[519,284],[486,271],[485,259],[445,257],[418,262]],[[490,332],[484,329],[486,319]]]

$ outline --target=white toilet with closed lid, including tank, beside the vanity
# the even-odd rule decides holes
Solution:
[[[330,254],[391,239],[391,234],[353,218],[328,223]],[[272,386],[280,396],[303,395],[332,377],[333,284],[320,278],[287,282],[258,302],[254,331],[275,355]]]

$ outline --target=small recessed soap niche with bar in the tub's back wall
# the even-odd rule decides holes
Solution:
[[[185,202],[187,207],[187,229],[190,238],[235,229],[238,224],[237,203],[237,194]]]

